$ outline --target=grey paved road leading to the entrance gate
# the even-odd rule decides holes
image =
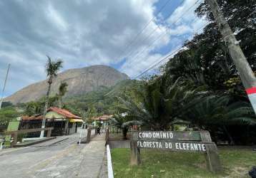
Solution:
[[[0,152],[0,177],[98,177],[104,140],[88,145],[77,145],[78,141],[79,133]]]

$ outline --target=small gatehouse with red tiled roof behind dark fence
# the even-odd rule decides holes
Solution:
[[[68,110],[51,107],[46,112],[46,127],[54,127],[51,135],[70,135],[77,132],[79,122],[83,122],[82,117],[74,115]],[[19,130],[40,128],[43,115],[23,116],[21,117]],[[39,132],[30,133],[29,137],[37,137]]]

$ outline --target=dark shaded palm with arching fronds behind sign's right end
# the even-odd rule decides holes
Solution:
[[[189,121],[191,127],[209,130],[215,137],[216,132],[223,132],[234,144],[227,125],[256,125],[256,119],[249,103],[237,101],[232,103],[229,95],[210,95],[201,103],[184,110],[182,119]]]

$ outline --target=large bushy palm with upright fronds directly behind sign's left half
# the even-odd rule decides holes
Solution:
[[[119,97],[121,112],[127,112],[127,118],[138,120],[142,125],[152,130],[169,130],[174,120],[179,118],[182,110],[192,107],[200,95],[201,90],[189,90],[189,86],[178,85],[177,80],[170,88],[163,87],[161,80],[147,83],[142,95],[142,103],[135,103],[129,97]],[[195,98],[198,98],[197,100]]]

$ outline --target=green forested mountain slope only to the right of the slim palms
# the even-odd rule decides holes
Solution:
[[[65,107],[78,115],[82,113],[89,119],[99,115],[113,115],[119,105],[117,96],[129,95],[139,102],[140,98],[135,90],[139,90],[141,85],[142,82],[137,80],[122,80],[110,88],[100,86],[84,95],[64,98]]]

